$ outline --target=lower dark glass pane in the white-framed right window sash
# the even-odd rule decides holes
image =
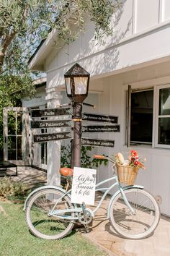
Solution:
[[[170,118],[158,119],[158,144],[170,145]]]

